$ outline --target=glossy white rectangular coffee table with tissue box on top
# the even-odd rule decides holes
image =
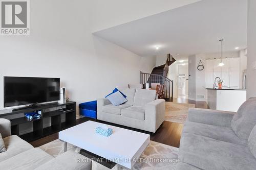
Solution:
[[[68,142],[131,169],[150,143],[150,135],[107,125],[114,132],[105,137],[95,132],[101,125],[104,124],[88,121],[60,131],[59,139],[65,141],[66,151]]]

